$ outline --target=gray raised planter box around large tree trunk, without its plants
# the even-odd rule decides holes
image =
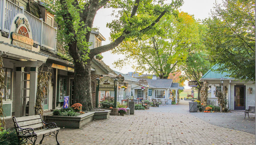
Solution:
[[[58,127],[65,128],[81,128],[87,123],[93,121],[93,119],[108,119],[110,110],[99,111],[99,112],[88,112],[79,116],[53,116],[46,115],[46,123],[56,123]]]

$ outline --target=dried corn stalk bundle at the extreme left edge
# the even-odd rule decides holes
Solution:
[[[3,110],[3,100],[2,100],[2,92],[1,89],[5,88],[4,85],[4,65],[3,65],[3,57],[0,56],[0,131],[5,129],[5,121],[4,121],[4,110]],[[1,119],[3,117],[3,119]],[[2,126],[1,126],[2,125]]]

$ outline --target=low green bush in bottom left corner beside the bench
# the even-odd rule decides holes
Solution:
[[[0,131],[0,145],[19,145],[16,131],[13,129]]]

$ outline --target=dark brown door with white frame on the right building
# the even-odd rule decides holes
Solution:
[[[245,86],[235,86],[235,110],[245,110]]]

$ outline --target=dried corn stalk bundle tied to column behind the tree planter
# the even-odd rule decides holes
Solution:
[[[44,109],[42,108],[45,96],[48,95],[49,79],[52,76],[50,68],[47,71],[40,71],[37,76],[37,93],[36,93],[36,114],[41,114],[43,116]]]

